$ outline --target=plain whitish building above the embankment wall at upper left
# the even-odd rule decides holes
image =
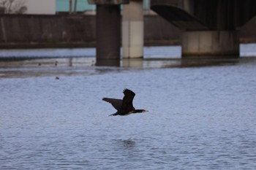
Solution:
[[[56,14],[56,0],[22,0],[27,7],[25,14]]]

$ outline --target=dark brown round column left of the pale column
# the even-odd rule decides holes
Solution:
[[[121,47],[120,5],[97,4],[96,22],[97,63],[102,63],[103,60],[119,59]]]

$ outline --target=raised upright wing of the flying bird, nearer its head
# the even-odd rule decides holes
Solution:
[[[132,90],[124,89],[124,98],[123,103],[121,105],[122,110],[126,110],[127,112],[130,112],[134,110],[134,107],[132,105],[133,98],[135,97],[135,93]]]

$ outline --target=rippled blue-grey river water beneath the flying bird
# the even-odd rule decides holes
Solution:
[[[0,169],[256,169],[256,45],[200,64],[167,49],[121,67],[1,61]],[[108,117],[102,97],[124,88],[149,112]]]

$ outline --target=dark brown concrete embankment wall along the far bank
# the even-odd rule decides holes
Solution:
[[[256,42],[256,18],[241,42]],[[94,15],[0,15],[0,48],[95,47]],[[179,45],[181,30],[158,15],[144,17],[145,45]]]

